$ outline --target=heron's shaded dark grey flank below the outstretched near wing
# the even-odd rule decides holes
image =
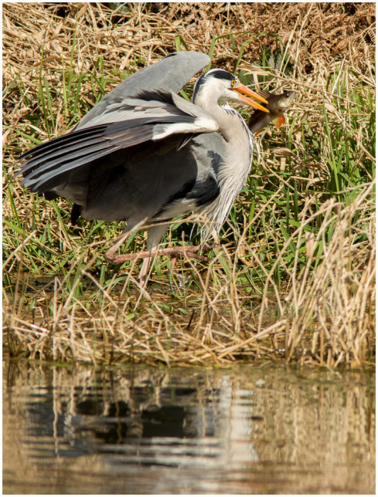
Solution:
[[[172,219],[209,204],[218,196],[217,174],[224,155],[221,135],[202,133],[180,150],[169,148],[167,141],[146,145],[153,145],[153,153],[147,157],[146,151],[141,151],[133,158],[137,163],[125,163],[120,157],[121,167],[111,170],[95,202],[89,192],[82,209],[84,217],[126,220],[128,229],[134,229],[143,219]],[[116,156],[117,153],[114,160]],[[177,167],[181,164],[185,167]]]

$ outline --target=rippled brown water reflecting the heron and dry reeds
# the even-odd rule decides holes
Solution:
[[[4,493],[374,493],[374,376],[4,364]]]

